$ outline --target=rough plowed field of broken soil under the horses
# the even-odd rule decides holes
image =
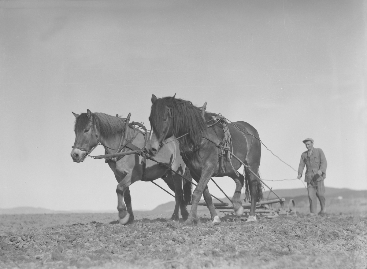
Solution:
[[[0,215],[0,268],[367,268],[367,216]]]

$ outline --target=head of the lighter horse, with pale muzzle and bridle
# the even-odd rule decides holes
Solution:
[[[75,120],[75,142],[70,153],[76,163],[81,163],[89,153],[98,145],[97,133],[93,124],[93,113],[87,109],[87,113],[76,114],[72,112]]]

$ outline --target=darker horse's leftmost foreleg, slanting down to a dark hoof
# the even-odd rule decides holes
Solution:
[[[199,222],[199,219],[197,218],[196,215],[197,206],[200,202],[201,196],[203,195],[204,189],[207,186],[208,181],[210,180],[210,177],[213,174],[213,171],[214,171],[213,168],[206,166],[201,172],[199,180],[195,175],[192,174],[193,179],[195,179],[195,181],[197,182],[197,186],[194,192],[192,193],[191,210],[188,219],[183,223],[183,227],[194,226]]]

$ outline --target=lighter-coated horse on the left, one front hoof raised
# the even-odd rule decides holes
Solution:
[[[99,143],[105,147],[106,154],[116,153],[120,148],[126,130],[126,123],[120,117],[110,116],[104,113],[87,113],[80,115],[73,113],[76,117],[75,121],[75,143],[71,156],[74,162],[80,163],[84,161]],[[141,149],[145,146],[144,134],[129,126],[127,138],[137,148]],[[173,138],[171,138],[173,139]],[[125,144],[127,141],[122,141]],[[132,146],[130,146],[132,147]],[[179,146],[177,141],[167,144],[162,148],[162,152],[155,158],[167,166],[171,166],[172,170],[191,180],[189,169],[185,169],[186,165],[179,155]],[[160,164],[147,160],[145,176],[143,176],[142,157],[137,154],[126,155],[117,162],[109,162],[111,170],[115,173],[115,178],[119,184],[117,185],[117,210],[119,210],[119,221],[122,224],[131,223],[134,220],[134,214],[131,207],[130,186],[135,181],[153,181],[162,178],[168,187],[175,192],[176,205],[172,215],[172,219],[178,220],[178,211],[181,208],[183,219],[187,219],[189,213],[186,204],[191,200],[191,182],[184,182],[182,189],[182,178],[167,170]],[[186,171],[185,171],[186,170]],[[126,202],[126,205],[124,203]]]

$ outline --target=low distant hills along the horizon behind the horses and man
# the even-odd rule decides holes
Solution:
[[[274,192],[280,196],[281,198],[286,199],[286,203],[290,199],[294,199],[296,204],[304,204],[308,203],[307,190],[305,188],[300,189],[279,189],[274,190]],[[264,193],[264,198],[268,198],[269,191]],[[337,198],[339,196],[343,197],[343,199],[356,199],[356,198],[367,198],[367,190],[350,190],[350,189],[337,189],[337,188],[325,188],[325,196],[327,198]],[[241,200],[244,199],[244,194],[241,195]],[[269,199],[276,199],[276,196],[273,193],[270,193]],[[227,198],[221,198],[222,201],[231,204],[231,202]],[[217,202],[216,199],[213,199],[214,202]],[[204,200],[201,200],[204,202]],[[153,210],[142,211],[142,210],[134,210],[134,213],[145,212],[149,214],[166,214],[172,213],[175,207],[175,202],[170,201],[168,203],[160,204]],[[190,211],[190,206],[188,206],[188,210]],[[208,211],[207,207],[199,206],[198,211]],[[115,213],[116,211],[93,211],[93,210],[78,210],[78,211],[56,211],[46,208],[34,208],[34,207],[16,207],[16,208],[0,208],[0,215],[2,214],[70,214],[70,213]],[[208,211],[209,212],[209,211]]]

